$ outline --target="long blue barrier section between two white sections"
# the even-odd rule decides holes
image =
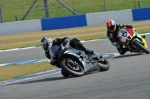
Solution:
[[[41,20],[42,30],[53,30],[87,26],[85,15],[75,15],[59,18],[45,18]]]

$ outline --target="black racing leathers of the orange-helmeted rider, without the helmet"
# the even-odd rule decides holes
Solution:
[[[124,55],[127,51],[129,51],[128,48],[124,48],[123,44],[120,43],[119,38],[118,38],[118,31],[120,30],[120,28],[123,28],[123,27],[131,27],[131,28],[133,28],[132,25],[122,25],[121,26],[120,24],[116,24],[115,31],[107,30],[107,37],[111,41],[112,45],[116,46],[118,52],[121,55]]]

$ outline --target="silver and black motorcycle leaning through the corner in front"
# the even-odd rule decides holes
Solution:
[[[91,71],[107,71],[110,68],[107,59],[94,53],[87,55],[84,51],[72,48],[69,43],[54,45],[49,48],[50,62],[61,68],[64,77],[80,77]]]

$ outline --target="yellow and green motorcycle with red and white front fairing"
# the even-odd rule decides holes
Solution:
[[[139,35],[132,28],[121,28],[118,32],[118,37],[120,42],[131,52],[146,54],[150,53],[147,49],[145,38]]]

